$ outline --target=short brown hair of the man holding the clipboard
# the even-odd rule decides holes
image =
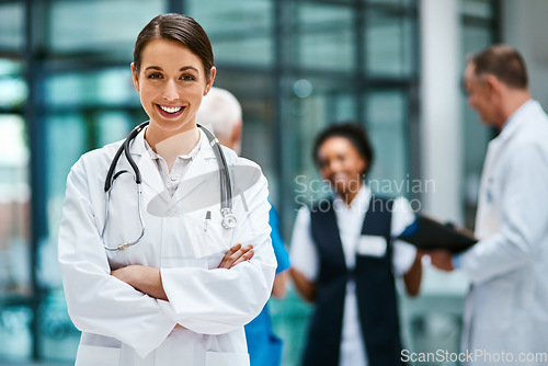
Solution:
[[[522,55],[507,45],[493,45],[471,56],[469,62],[475,66],[475,75],[489,73],[509,87],[526,89],[528,85],[527,68]]]

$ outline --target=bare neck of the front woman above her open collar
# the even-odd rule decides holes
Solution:
[[[190,153],[199,141],[199,130],[196,126],[181,131],[165,131],[149,125],[145,139],[152,150],[165,160],[169,170],[175,163],[176,157]]]

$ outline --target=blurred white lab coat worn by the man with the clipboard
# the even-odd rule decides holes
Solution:
[[[516,361],[521,353],[547,357],[548,117],[535,101],[518,108],[489,144],[476,236],[480,241],[460,256],[472,282],[463,348],[511,353]]]

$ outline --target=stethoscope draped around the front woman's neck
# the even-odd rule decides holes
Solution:
[[[141,175],[139,168],[135,163],[135,160],[132,158],[132,153],[129,152],[129,142],[132,142],[133,139],[149,124],[149,121],[141,123],[132,131],[127,135],[126,139],[122,144],[122,146],[118,148],[116,151],[116,155],[112,159],[111,167],[109,168],[109,172],[106,173],[106,179],[104,182],[104,192],[105,192],[105,220],[103,225],[103,230],[101,231],[101,239],[103,241],[103,247],[109,250],[109,251],[122,251],[124,249],[127,249],[129,247],[133,247],[137,244],[142,237],[145,236],[145,221],[142,219],[142,190],[141,190]],[[207,128],[201,126],[199,124],[197,125],[204,134],[206,135],[207,139],[209,140],[209,145],[213,148],[213,151],[215,153],[215,157],[217,158],[217,162],[219,164],[219,176],[220,176],[220,214],[222,215],[222,221],[221,225],[225,229],[233,229],[236,228],[238,220],[236,219],[236,215],[232,214],[232,186],[230,183],[230,173],[228,171],[228,164],[227,160],[225,159],[225,155],[222,153],[222,149],[220,147],[219,140],[215,137],[214,134],[212,134]],[[135,183],[137,185],[137,196],[138,196],[138,202],[137,202],[137,207],[139,211],[139,222],[140,222],[140,235],[136,240],[133,241],[126,241],[117,247],[110,247],[105,240],[104,240],[104,233],[106,229],[106,222],[109,221],[109,208],[110,208],[110,203],[111,203],[111,194],[112,194],[112,186],[116,178],[124,173],[128,173],[127,170],[121,170],[117,173],[114,171],[116,170],[116,164],[118,163],[119,157],[124,153],[126,156],[127,162],[129,162],[129,165],[132,165],[132,169],[135,174]]]

